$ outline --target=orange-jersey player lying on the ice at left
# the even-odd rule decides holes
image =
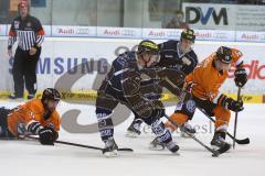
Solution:
[[[61,95],[46,88],[41,99],[33,99],[9,110],[0,108],[0,139],[39,135],[41,144],[53,145],[59,138],[60,116],[56,111]]]

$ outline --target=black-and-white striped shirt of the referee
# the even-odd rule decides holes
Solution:
[[[12,21],[9,31],[8,47],[12,48],[12,45],[18,41],[18,47],[22,51],[29,51],[31,47],[41,47],[44,41],[44,31],[41,22],[31,15],[28,15],[24,20],[20,16]]]

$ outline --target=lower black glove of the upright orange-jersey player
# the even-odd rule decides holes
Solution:
[[[243,101],[236,101],[236,100],[233,100],[232,98],[227,98],[226,96],[222,97],[220,105],[234,112],[240,112],[244,110]]]

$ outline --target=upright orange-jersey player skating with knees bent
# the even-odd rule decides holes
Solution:
[[[189,129],[186,129],[183,124],[192,119],[195,108],[215,117],[215,132],[211,145],[218,148],[225,145],[226,148],[230,148],[230,144],[225,142],[231,117],[230,110],[239,112],[244,109],[242,101],[229,98],[219,90],[227,78],[231,65],[236,67],[234,73],[235,85],[243,87],[247,81],[247,75],[243,67],[242,53],[235,48],[221,46],[186,77],[184,89],[191,92],[191,98],[186,103],[178,102],[174,113],[170,117],[181,127],[180,130],[187,130],[187,132],[189,132]],[[173,127],[170,122],[166,122],[166,125]],[[151,145],[157,145],[156,140]]]

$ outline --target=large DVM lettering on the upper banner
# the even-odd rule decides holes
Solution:
[[[210,19],[213,19],[214,24],[220,24],[223,22],[223,25],[227,25],[227,11],[225,8],[221,8],[220,11],[216,11],[214,8],[208,8],[206,11],[200,7],[186,7],[186,21],[189,24],[195,24],[201,21],[201,24],[208,24]]]

